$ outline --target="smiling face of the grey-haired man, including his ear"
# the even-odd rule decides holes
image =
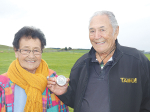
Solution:
[[[113,28],[106,15],[92,18],[89,26],[89,38],[92,46],[98,53],[109,53],[115,46],[119,27],[113,34]]]

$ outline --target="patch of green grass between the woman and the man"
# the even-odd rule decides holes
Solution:
[[[43,53],[42,58],[48,63],[49,68],[56,71],[58,75],[69,77],[72,66],[82,55],[83,53],[51,52]]]

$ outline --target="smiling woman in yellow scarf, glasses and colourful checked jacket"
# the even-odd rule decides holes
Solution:
[[[13,41],[16,60],[0,75],[0,112],[68,112],[68,107],[47,86],[47,76],[57,77],[42,59],[44,34],[23,27]]]

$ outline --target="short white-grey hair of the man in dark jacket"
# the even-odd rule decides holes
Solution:
[[[94,15],[91,17],[91,19],[89,21],[89,26],[90,26],[92,18],[95,17],[95,16],[98,16],[98,15],[107,15],[108,16],[108,18],[110,20],[110,23],[113,27],[113,33],[115,33],[116,28],[118,27],[118,23],[117,23],[117,20],[115,18],[115,15],[110,11],[97,11],[97,12],[95,12]]]

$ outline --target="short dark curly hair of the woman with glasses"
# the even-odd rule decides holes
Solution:
[[[23,28],[21,28],[14,37],[13,40],[13,47],[17,50],[19,49],[19,40],[22,37],[31,37],[32,39],[36,39],[38,38],[41,41],[41,48],[43,49],[44,46],[46,45],[46,39],[45,39],[45,35],[43,34],[43,32],[40,29],[37,29],[35,27],[30,27],[30,26],[24,26]]]

